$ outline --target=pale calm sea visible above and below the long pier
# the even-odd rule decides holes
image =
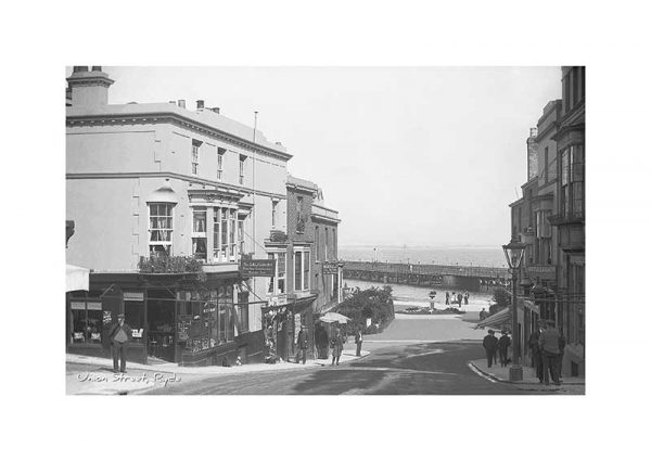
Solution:
[[[373,246],[340,246],[339,257],[343,260],[362,260],[371,261],[375,252]],[[436,264],[445,266],[482,266],[482,267],[506,267],[505,254],[499,246],[379,246],[378,260],[385,262],[410,262],[410,264]],[[366,290],[371,286],[378,286],[378,282],[368,282],[361,280],[344,279],[348,287],[357,286]],[[390,283],[393,289],[394,305],[396,310],[404,310],[407,307],[429,307],[432,289],[423,286],[409,286]],[[452,294],[451,290],[436,290],[434,307],[445,309],[446,291]],[[465,293],[465,292],[463,292]],[[493,292],[469,292],[469,304],[461,304],[461,309],[465,311],[488,310],[492,304]],[[458,305],[456,305],[458,306]]]

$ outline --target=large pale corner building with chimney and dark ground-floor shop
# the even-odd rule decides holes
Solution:
[[[203,101],[108,104],[101,67],[67,81],[66,259],[91,269],[66,306],[67,349],[106,355],[105,330],[125,313],[136,359],[261,360],[270,278],[239,264],[266,259],[270,232],[286,232],[291,155]],[[170,269],[191,260],[201,280]]]

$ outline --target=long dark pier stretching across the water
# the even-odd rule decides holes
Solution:
[[[490,285],[503,285],[509,280],[509,271],[500,267],[344,261],[343,277],[381,284],[396,283],[478,292]]]

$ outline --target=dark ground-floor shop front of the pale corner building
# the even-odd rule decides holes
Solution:
[[[197,283],[188,274],[91,273],[89,291],[67,297],[66,350],[110,357],[107,333],[124,313],[131,361],[208,366],[240,356],[245,362],[256,355],[246,340],[247,289],[238,272],[214,276]]]

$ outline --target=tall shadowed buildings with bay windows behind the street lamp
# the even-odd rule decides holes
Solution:
[[[522,199],[509,205],[511,234],[525,244],[519,277],[520,350],[525,358],[529,354],[526,345],[538,319],[553,320],[567,343],[564,373],[583,375],[585,67],[562,67],[562,100],[545,106],[526,153],[528,180]]]

